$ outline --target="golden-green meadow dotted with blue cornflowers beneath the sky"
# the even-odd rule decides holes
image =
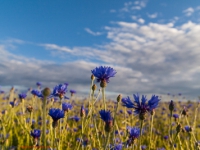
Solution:
[[[199,102],[138,93],[106,98],[116,71],[96,67],[88,97],[68,83],[26,93],[1,91],[0,149],[199,150]],[[87,88],[87,87],[86,87]],[[67,97],[68,96],[68,97]]]

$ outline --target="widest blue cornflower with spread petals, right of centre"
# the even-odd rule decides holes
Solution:
[[[122,105],[127,108],[134,108],[134,113],[140,115],[140,119],[144,119],[144,115],[147,112],[152,112],[157,106],[160,99],[158,96],[152,95],[151,99],[147,103],[146,96],[142,95],[140,101],[139,94],[134,94],[134,101],[132,102],[129,97],[122,99]]]

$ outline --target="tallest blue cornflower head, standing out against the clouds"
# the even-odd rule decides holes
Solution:
[[[100,82],[102,88],[106,87],[107,83],[109,83],[109,78],[114,77],[117,73],[113,68],[106,66],[96,67],[91,72],[97,78],[97,82]]]

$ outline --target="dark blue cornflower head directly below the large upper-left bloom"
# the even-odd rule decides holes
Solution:
[[[64,118],[64,111],[60,109],[52,108],[49,110],[49,116],[53,119],[53,127],[55,128],[58,125],[58,120]]]

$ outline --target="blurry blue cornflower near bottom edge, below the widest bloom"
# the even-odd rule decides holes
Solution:
[[[137,127],[133,127],[133,128],[129,127],[128,132],[129,132],[129,139],[127,141],[127,145],[131,146],[131,144],[133,144],[135,142],[135,140],[139,138],[140,129]]]

